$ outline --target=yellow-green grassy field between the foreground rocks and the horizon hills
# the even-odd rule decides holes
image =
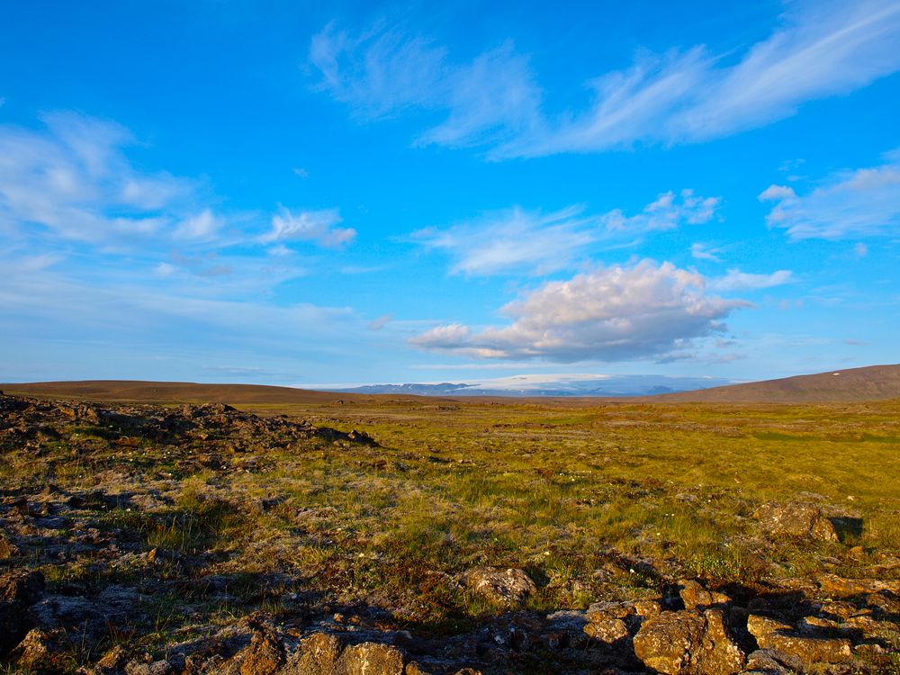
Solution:
[[[500,613],[448,581],[479,565],[525,570],[538,588],[528,608],[540,611],[649,597],[684,577],[761,593],[820,572],[900,575],[885,566],[900,555],[897,401],[368,399],[241,409],[356,429],[378,445],[313,439],[210,456],[202,444],[82,424],[40,453],[7,450],[0,464],[5,494],[47,494],[50,484],[153,493],[154,505],[106,509],[91,525],[153,551],[153,580],[229,580],[226,600],[209,600],[196,583],[148,600],[148,646],[190,623],[184,603],[212,623],[260,608],[295,617],[298,602],[307,613],[357,604],[450,634]],[[841,541],[761,536],[752,513],[768,500],[814,502]],[[111,566],[100,555],[34,554],[32,564],[51,590],[148,574],[146,561]]]

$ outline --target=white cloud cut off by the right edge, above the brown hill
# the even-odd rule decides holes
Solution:
[[[794,240],[896,236],[900,152],[889,153],[880,166],[830,175],[810,193],[782,193],[766,220]]]

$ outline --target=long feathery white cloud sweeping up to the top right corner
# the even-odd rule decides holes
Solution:
[[[491,157],[692,143],[789,117],[900,69],[900,5],[793,2],[779,27],[734,58],[698,45],[639,52],[590,80],[581,112],[547,114],[527,56],[511,43],[457,62],[434,40],[380,23],[351,34],[329,24],[311,41],[320,87],[366,118],[410,110],[445,121],[419,142],[478,145]]]

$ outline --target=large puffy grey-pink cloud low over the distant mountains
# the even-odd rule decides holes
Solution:
[[[725,330],[741,300],[707,295],[702,276],[643,260],[548,282],[501,313],[503,328],[451,323],[412,338],[416,347],[489,359],[573,362],[663,357]]]

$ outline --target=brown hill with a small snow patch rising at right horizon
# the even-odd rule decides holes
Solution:
[[[900,365],[869,365],[644,398],[670,403],[849,403],[900,397]]]

